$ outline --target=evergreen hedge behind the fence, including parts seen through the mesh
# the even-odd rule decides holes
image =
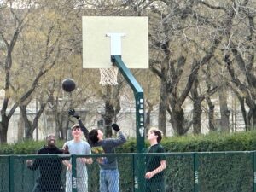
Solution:
[[[62,147],[64,141],[57,141],[57,146]],[[27,140],[20,143],[2,144],[2,154],[36,154],[39,148],[44,146],[45,141]],[[232,134],[211,133],[199,136],[165,137],[161,144],[166,152],[214,152],[214,151],[254,151],[256,150],[256,131],[237,132]],[[147,147],[149,143],[146,142]],[[129,138],[128,142],[119,146],[116,150],[119,154],[135,153],[136,139]],[[146,151],[145,151],[146,152]],[[188,191],[194,188],[194,162],[193,154],[164,154],[166,155],[166,191]],[[22,166],[26,157],[16,157]],[[145,157],[144,157],[145,158]],[[3,161],[3,162],[2,162]],[[2,162],[2,163],[1,163]],[[16,162],[16,161],[15,161]],[[133,160],[131,156],[119,157],[120,188],[131,191],[133,186]],[[2,166],[1,166],[2,165]],[[8,163],[4,157],[0,159],[2,172]],[[199,180],[201,191],[252,191],[252,155],[249,153],[236,154],[199,154]],[[96,164],[89,166],[93,175],[90,180],[90,189],[97,189],[98,169]],[[16,169],[17,172],[19,171]],[[21,172],[20,172],[21,174]],[[91,176],[92,176],[91,175]],[[26,172],[26,177],[32,177],[32,172]],[[7,177],[7,176],[6,176]],[[22,179],[21,179],[22,180]],[[229,183],[229,184],[227,184]],[[6,184],[6,183],[5,183]],[[22,184],[22,183],[20,183]],[[4,186],[4,183],[0,183]],[[17,185],[18,187],[20,185]],[[129,186],[129,189],[127,188]],[[122,190],[122,191],[123,191]],[[21,190],[20,190],[21,191]],[[24,190],[26,191],[26,190]]]

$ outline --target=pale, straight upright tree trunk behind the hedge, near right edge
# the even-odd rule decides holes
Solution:
[[[226,86],[218,90],[219,109],[220,109],[220,127],[222,131],[230,132],[230,110],[227,102]]]

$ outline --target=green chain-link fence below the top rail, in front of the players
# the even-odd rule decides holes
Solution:
[[[158,181],[164,183],[166,192],[256,192],[255,151],[4,155],[0,156],[0,192],[96,192],[105,176],[110,183],[117,183],[120,192],[143,192],[150,183],[144,178],[146,161],[153,156],[166,160],[164,179]],[[87,164],[90,158],[93,163]],[[115,158],[118,172],[102,172],[99,163]],[[108,192],[116,191],[109,187]]]

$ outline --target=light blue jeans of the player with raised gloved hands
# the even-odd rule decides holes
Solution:
[[[100,170],[100,192],[119,192],[119,171]]]

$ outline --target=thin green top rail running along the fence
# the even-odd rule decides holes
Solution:
[[[45,157],[45,158],[50,158],[50,157],[106,157],[106,156],[117,156],[117,157],[123,157],[123,156],[133,156],[133,155],[138,155],[138,156],[148,156],[148,155],[166,155],[166,156],[191,156],[194,154],[199,154],[199,155],[215,155],[215,154],[253,154],[256,153],[255,151],[205,151],[205,152],[167,152],[167,153],[161,153],[161,154],[154,154],[154,153],[125,153],[125,154],[0,154],[0,157],[2,158],[9,158],[9,157],[14,157],[14,158],[38,158],[38,157]]]

